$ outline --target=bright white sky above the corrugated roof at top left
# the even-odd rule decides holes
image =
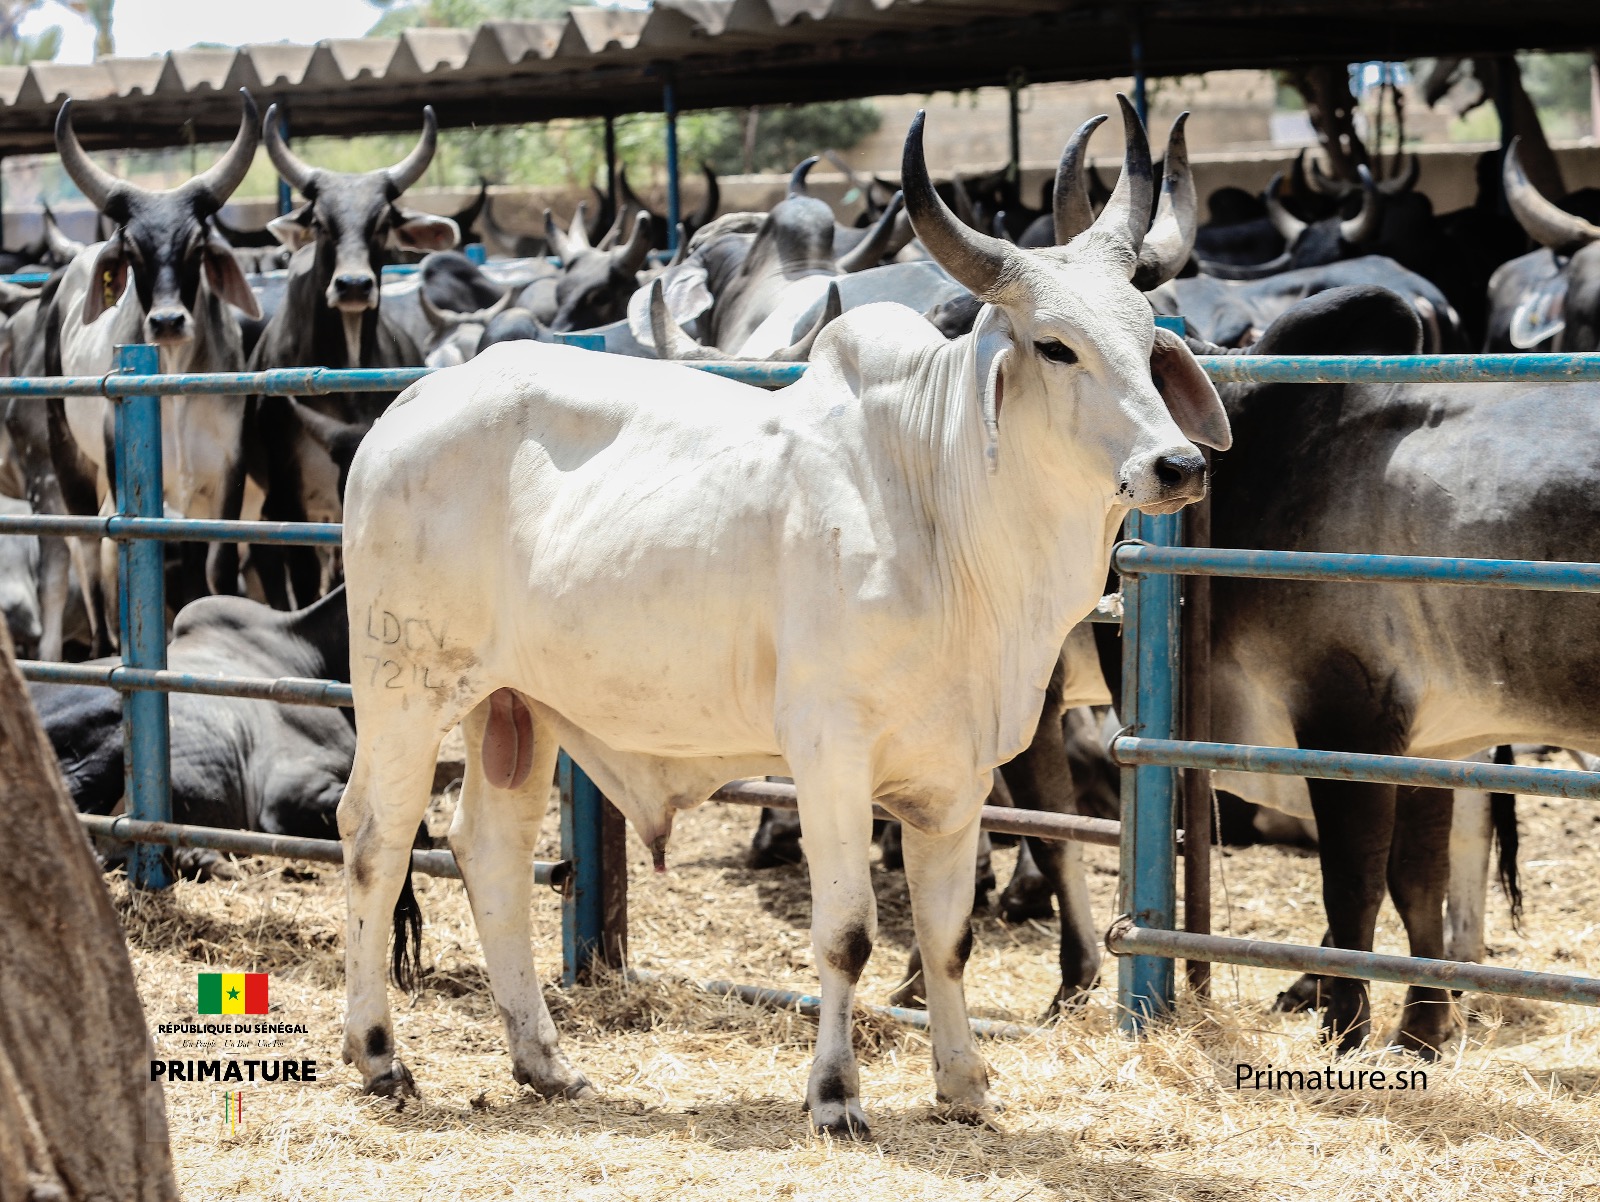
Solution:
[[[318,42],[360,37],[379,11],[366,0],[117,0],[118,54],[165,54],[197,42]],[[91,62],[94,29],[59,5],[45,5],[22,26],[35,34],[61,26],[59,62]]]

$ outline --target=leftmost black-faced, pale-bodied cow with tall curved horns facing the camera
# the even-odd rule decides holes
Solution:
[[[61,165],[85,197],[115,224],[66,269],[40,319],[50,375],[101,376],[115,347],[154,343],[162,371],[238,371],[245,367],[238,314],[259,317],[256,296],[213,224],[256,155],[258,114],[248,91],[234,144],[205,173],[170,192],[152,192],[94,163],[72,130],[72,101],[56,115]],[[104,397],[51,402],[53,458],[75,512],[94,514],[110,490]],[[245,407],[235,397],[182,395],[162,403],[162,469],[166,503],[184,517],[235,519],[243,501]],[[75,443],[75,445],[74,445]],[[96,541],[75,544],[96,653],[109,650],[114,607],[106,603]],[[216,544],[210,563],[187,557],[187,594],[234,592],[237,559]]]

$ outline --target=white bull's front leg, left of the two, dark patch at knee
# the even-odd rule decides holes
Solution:
[[[835,755],[819,755],[811,765],[794,763],[790,755],[811,874],[811,951],[822,981],[816,1060],[805,1104],[814,1130],[867,1140],[872,1132],[861,1109],[861,1080],[850,1028],[856,981],[878,930],[869,863],[872,789],[866,757],[842,762]],[[966,867],[971,872],[971,850]],[[971,903],[971,896],[968,877],[963,906]]]

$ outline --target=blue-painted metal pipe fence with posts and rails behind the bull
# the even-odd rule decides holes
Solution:
[[[592,346],[581,338],[571,341]],[[352,699],[350,687],[336,680],[272,680],[166,671],[160,541],[330,546],[339,541],[339,527],[163,519],[160,397],[197,392],[243,397],[387,391],[405,387],[426,376],[429,370],[294,368],[165,376],[158,373],[158,357],[152,346],[118,347],[117,355],[117,370],[104,378],[0,379],[0,397],[104,395],[115,402],[117,514],[0,517],[0,535],[102,536],[117,543],[122,664],[114,667],[37,661],[21,664],[22,674],[30,680],[109,687],[125,693],[130,813],[125,818],[85,816],[85,826],[101,837],[131,843],[128,871],[131,879],[146,888],[170,883],[162,855],[162,850],[170,847],[211,847],[338,863],[342,856],[339,845],[331,840],[206,831],[171,823],[168,693],[206,693],[318,706],[350,706]],[[1600,381],[1600,354],[1229,355],[1203,357],[1200,365],[1218,383]],[[694,367],[765,387],[781,387],[805,371],[805,365],[696,363]],[[1107,935],[1107,946],[1120,956],[1118,1004],[1125,1023],[1138,1028],[1173,1004],[1174,957],[1600,1005],[1600,981],[1586,978],[1331,948],[1266,944],[1213,936],[1205,930],[1176,930],[1178,855],[1187,851],[1190,877],[1198,874],[1202,880],[1192,899],[1203,899],[1210,861],[1210,840],[1197,840],[1192,847],[1186,847],[1182,832],[1178,831],[1176,770],[1179,768],[1234,768],[1600,799],[1600,773],[1178,739],[1181,671],[1176,578],[1179,575],[1429,581],[1477,587],[1600,592],[1600,565],[1181,547],[1179,531],[1178,514],[1163,517],[1133,514],[1125,530],[1128,541],[1114,554],[1114,565],[1123,575],[1120,711],[1126,730],[1112,744],[1114,757],[1125,765],[1122,823],[990,807],[986,807],[982,815],[982,824],[990,831],[1120,845],[1122,914]],[[1107,615],[1096,618],[1115,621]],[[558,784],[562,859],[539,864],[536,879],[563,893],[563,976],[571,983],[597,960],[619,962],[626,940],[626,863],[621,859],[621,816],[605,802],[582,770],[565,755],[558,767]],[[794,808],[794,789],[784,784],[741,783],[722,789],[715,799]],[[1190,813],[1198,819],[1190,826],[1210,827],[1208,813],[1200,815],[1192,810]],[[413,867],[458,875],[448,851],[418,851],[413,855]],[[1189,917],[1192,920],[1195,916]],[[781,1000],[794,1002],[794,997],[782,991],[717,984],[723,992],[757,1000],[781,996]]]

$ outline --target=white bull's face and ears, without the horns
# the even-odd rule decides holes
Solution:
[[[1018,254],[976,333],[1010,343],[987,383],[1002,442],[1066,440],[1062,466],[1104,482],[1114,504],[1170,514],[1203,496],[1195,442],[1227,447],[1227,418],[1115,262],[1093,246]]]

